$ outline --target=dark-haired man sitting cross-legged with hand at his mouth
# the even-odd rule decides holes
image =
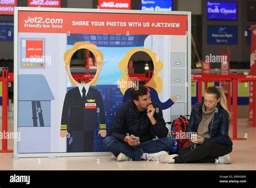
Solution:
[[[103,144],[117,161],[158,161],[159,156],[174,147],[173,139],[167,137],[163,113],[159,105],[151,101],[150,93],[143,85],[132,88],[132,100],[119,108],[113,121],[110,136]],[[159,139],[153,140],[158,137]]]

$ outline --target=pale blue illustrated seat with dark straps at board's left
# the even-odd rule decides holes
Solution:
[[[51,101],[54,96],[42,74],[18,75],[18,153],[50,152]]]

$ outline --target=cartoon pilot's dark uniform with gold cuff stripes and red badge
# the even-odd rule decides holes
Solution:
[[[73,88],[66,93],[60,130],[68,130],[67,152],[93,151],[95,130],[106,129],[102,95],[95,88]]]

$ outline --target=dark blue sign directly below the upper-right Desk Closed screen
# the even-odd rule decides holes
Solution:
[[[236,25],[207,25],[207,44],[236,45]]]

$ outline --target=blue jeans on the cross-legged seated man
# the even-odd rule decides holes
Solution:
[[[108,148],[114,156],[120,153],[132,158],[134,161],[140,161],[143,153],[153,154],[159,151],[167,151],[174,147],[174,141],[171,137],[159,138],[158,140],[149,140],[136,146],[120,142],[113,136],[107,136],[103,140],[104,147]]]

